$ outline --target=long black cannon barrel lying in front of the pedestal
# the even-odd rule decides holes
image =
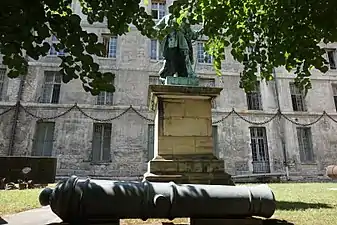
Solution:
[[[267,185],[223,186],[80,180],[72,176],[39,200],[64,222],[118,221],[125,218],[269,218],[275,198]]]

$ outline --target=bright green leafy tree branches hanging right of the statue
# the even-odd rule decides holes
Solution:
[[[258,71],[269,81],[273,68],[284,66],[306,94],[311,88],[310,70],[328,70],[322,57],[325,51],[318,44],[337,40],[334,0],[179,0],[172,10],[176,17],[204,24],[209,37],[206,46],[218,74],[225,47],[232,48],[239,62],[244,51],[251,49],[240,80],[246,90],[254,88]]]

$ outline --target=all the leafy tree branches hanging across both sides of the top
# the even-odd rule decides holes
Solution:
[[[123,35],[133,24],[142,35],[162,37],[169,28],[157,33],[152,16],[140,0],[78,0],[90,24],[106,23],[114,35]],[[147,3],[148,1],[144,1]],[[65,49],[60,72],[63,82],[80,78],[83,88],[93,95],[114,91],[108,85],[113,76],[103,73],[93,56],[104,54],[104,45],[94,33],[81,27],[81,18],[70,7],[71,0],[1,0],[0,52],[9,77],[27,73],[27,57],[38,60],[52,47],[46,40],[54,35]],[[337,1],[335,0],[179,0],[170,6],[172,19],[188,19],[202,24],[209,37],[206,50],[213,55],[214,67],[221,74],[224,49],[231,47],[234,59],[244,62],[240,87],[254,88],[258,72],[262,79],[273,79],[273,68],[285,66],[295,74],[301,89],[311,88],[310,70],[328,70],[325,53],[318,44],[337,39]]]

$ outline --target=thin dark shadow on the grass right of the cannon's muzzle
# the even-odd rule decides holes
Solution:
[[[307,202],[287,202],[277,201],[277,210],[305,210],[305,209],[329,209],[330,205],[325,203],[307,203]]]

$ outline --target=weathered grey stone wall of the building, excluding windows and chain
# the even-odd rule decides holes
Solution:
[[[104,26],[83,26],[99,36],[108,33]],[[120,114],[130,105],[135,107],[146,118],[153,118],[147,110],[147,93],[149,76],[157,75],[162,62],[150,60],[150,40],[140,35],[134,27],[127,35],[118,37],[117,58],[97,60],[102,70],[115,73],[116,92],[113,106],[94,105],[95,97],[86,93],[79,80],[62,84],[59,104],[37,103],[41,95],[43,74],[46,70],[58,70],[57,58],[47,56],[39,61],[30,60],[29,74],[24,85],[22,104],[40,117],[56,116],[75,102],[84,111],[96,118],[111,118]],[[336,47],[331,44],[328,47]],[[261,83],[263,111],[248,111],[246,96],[239,88],[239,75],[242,65],[235,62],[230,49],[225,50],[226,60],[222,62],[222,76],[217,77],[211,64],[196,65],[196,72],[205,78],[214,78],[215,85],[223,87],[216,99],[217,108],[213,109],[213,121],[226,116],[232,108],[250,121],[265,121],[273,116],[278,108],[275,82]],[[194,45],[196,56],[196,45]],[[337,72],[328,71],[321,74],[313,70],[313,89],[306,97],[307,112],[293,112],[289,82],[294,78],[284,68],[277,68],[279,102],[282,113],[292,120],[308,123],[315,120],[324,110],[337,119],[333,101],[331,83],[337,83]],[[0,112],[6,106],[17,101],[18,79],[6,81],[6,98],[0,103]],[[0,117],[0,155],[6,155],[13,124],[13,111]],[[15,136],[15,155],[30,155],[35,134],[36,118],[20,111]],[[78,111],[72,111],[56,122],[53,155],[58,157],[58,175],[77,174],[81,176],[138,176],[146,171],[147,162],[147,125],[151,121],[141,118],[132,111],[111,121],[111,154],[112,161],[105,164],[92,164],[88,161],[92,148],[93,120],[84,117]],[[250,146],[249,127],[256,126],[239,118],[230,116],[218,125],[218,148],[216,154],[224,159],[226,170],[231,174],[252,173],[252,151]],[[290,161],[290,172],[294,176],[316,176],[324,173],[325,166],[337,163],[337,124],[325,117],[311,126],[315,162],[302,164],[299,160],[299,148],[296,125],[277,117],[272,122],[260,126],[266,127],[268,153],[272,173],[284,172],[283,151],[281,143],[281,126],[284,126],[285,149]]]

